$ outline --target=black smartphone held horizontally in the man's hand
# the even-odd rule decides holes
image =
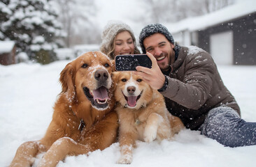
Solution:
[[[136,71],[137,66],[152,67],[152,61],[146,54],[125,54],[115,56],[115,70]]]

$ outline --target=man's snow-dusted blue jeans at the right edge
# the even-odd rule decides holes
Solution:
[[[256,122],[242,120],[234,109],[227,106],[211,109],[199,130],[228,147],[256,145]]]

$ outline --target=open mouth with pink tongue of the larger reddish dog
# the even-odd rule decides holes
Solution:
[[[83,91],[88,100],[91,101],[92,106],[97,107],[98,109],[105,109],[108,106],[108,89],[104,86],[101,86],[95,90],[90,90],[87,87],[83,88]]]

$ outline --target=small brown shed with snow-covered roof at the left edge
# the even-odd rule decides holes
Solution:
[[[0,64],[15,64],[16,47],[13,41],[0,41]]]

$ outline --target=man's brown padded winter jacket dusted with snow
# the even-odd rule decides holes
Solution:
[[[162,92],[166,107],[189,129],[198,129],[208,111],[229,106],[240,115],[239,105],[222,82],[213,58],[198,47],[180,47],[171,65],[168,86]]]

